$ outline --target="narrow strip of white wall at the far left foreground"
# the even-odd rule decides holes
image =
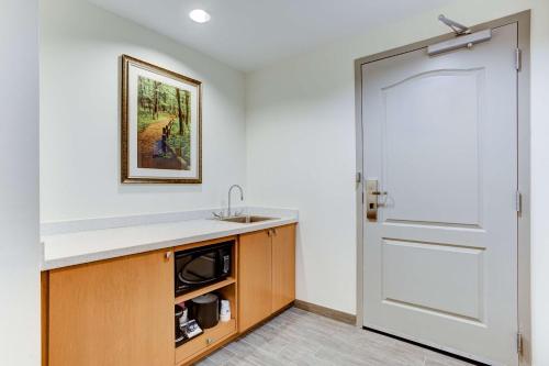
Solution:
[[[0,1],[0,365],[40,365],[38,3]]]

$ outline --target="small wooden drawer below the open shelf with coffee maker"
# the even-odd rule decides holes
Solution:
[[[236,320],[228,322],[219,322],[217,325],[204,330],[204,333],[192,341],[184,343],[176,348],[176,365],[182,365],[188,358],[198,353],[216,346],[228,336],[236,333]]]

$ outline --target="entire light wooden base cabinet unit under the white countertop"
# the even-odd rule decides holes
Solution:
[[[239,235],[228,278],[176,298],[175,251],[226,240],[43,273],[43,365],[191,365],[294,300],[294,224]],[[176,348],[175,303],[211,291],[233,318]]]

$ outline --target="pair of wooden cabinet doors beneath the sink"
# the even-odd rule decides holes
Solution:
[[[295,300],[295,225],[240,235],[238,259],[244,332]]]

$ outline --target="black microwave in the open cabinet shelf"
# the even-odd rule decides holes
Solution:
[[[234,241],[176,253],[176,296],[231,275]]]

